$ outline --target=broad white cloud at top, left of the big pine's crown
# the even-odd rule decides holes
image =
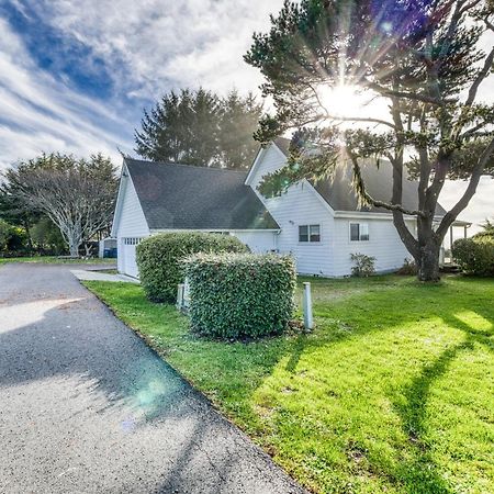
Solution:
[[[255,89],[243,61],[254,31],[266,30],[282,0],[37,1],[46,22],[90,46],[130,96],[155,100],[170,88]]]

